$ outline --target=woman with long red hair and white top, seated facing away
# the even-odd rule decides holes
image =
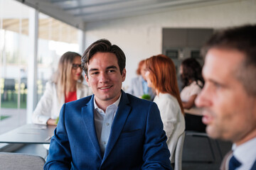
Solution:
[[[159,107],[167,145],[174,162],[174,149],[178,137],[185,130],[183,107],[178,91],[174,62],[165,55],[157,55],[146,60],[146,81],[156,91],[154,102]]]

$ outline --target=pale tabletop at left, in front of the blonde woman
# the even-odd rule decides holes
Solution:
[[[27,124],[0,135],[0,143],[50,144],[56,126]]]

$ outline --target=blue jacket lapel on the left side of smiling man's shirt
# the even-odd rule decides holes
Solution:
[[[102,155],[100,152],[100,145],[97,140],[97,133],[95,130],[93,98],[94,96],[92,96],[92,98],[87,103],[87,105],[82,108],[82,120],[85,123],[85,129],[87,130],[87,134],[90,137],[92,145],[95,147],[97,154],[102,159]]]

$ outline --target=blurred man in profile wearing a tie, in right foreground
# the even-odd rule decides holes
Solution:
[[[210,137],[233,142],[222,170],[256,169],[256,25],[215,33],[206,43],[205,85],[196,98]]]

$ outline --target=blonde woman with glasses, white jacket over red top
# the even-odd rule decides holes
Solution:
[[[46,91],[33,111],[32,122],[56,125],[56,118],[64,103],[92,94],[82,80],[81,56],[76,52],[65,52],[60,57],[57,72],[46,83]]]

